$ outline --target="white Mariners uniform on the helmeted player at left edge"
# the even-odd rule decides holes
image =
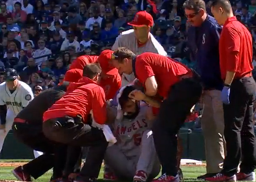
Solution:
[[[33,98],[30,86],[20,80],[18,80],[18,86],[13,93],[10,92],[5,82],[0,84],[0,105],[7,106],[5,132],[0,130],[0,152],[4,139],[12,128],[14,118]]]

